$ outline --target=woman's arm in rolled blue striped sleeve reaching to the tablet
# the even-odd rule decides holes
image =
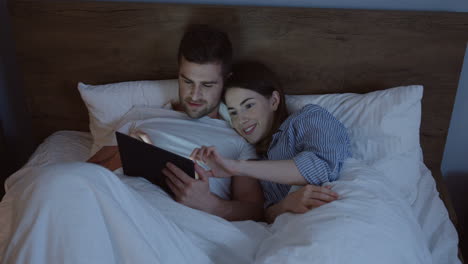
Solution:
[[[292,185],[321,185],[338,179],[343,161],[350,156],[350,144],[346,128],[330,113],[318,106],[305,107],[281,133],[282,140],[270,148],[274,156],[289,159],[228,160],[214,147],[195,149],[191,156],[205,162],[215,177],[250,176]]]

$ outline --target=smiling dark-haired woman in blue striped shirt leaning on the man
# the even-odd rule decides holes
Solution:
[[[325,109],[306,105],[288,116],[276,74],[258,62],[234,66],[224,101],[233,128],[255,144],[260,161],[221,157],[202,147],[191,157],[205,162],[214,177],[248,176],[261,180],[266,220],[284,212],[304,213],[338,195],[322,184],[337,180],[350,157],[346,128]],[[288,195],[291,185],[305,185]]]

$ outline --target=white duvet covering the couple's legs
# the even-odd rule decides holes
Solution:
[[[332,184],[338,201],[271,226],[225,221],[83,162],[26,167],[7,184],[1,263],[433,263],[408,202],[356,161]]]

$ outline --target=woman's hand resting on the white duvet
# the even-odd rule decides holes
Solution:
[[[303,214],[311,209],[320,207],[339,198],[338,194],[330,190],[330,186],[321,187],[306,185],[292,192],[281,201],[285,212]]]

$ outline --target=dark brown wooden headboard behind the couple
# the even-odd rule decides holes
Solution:
[[[229,33],[289,94],[365,93],[422,84],[421,145],[456,218],[440,165],[468,41],[468,14],[84,1],[9,1],[18,64],[39,143],[88,128],[76,84],[171,79],[191,23]]]

